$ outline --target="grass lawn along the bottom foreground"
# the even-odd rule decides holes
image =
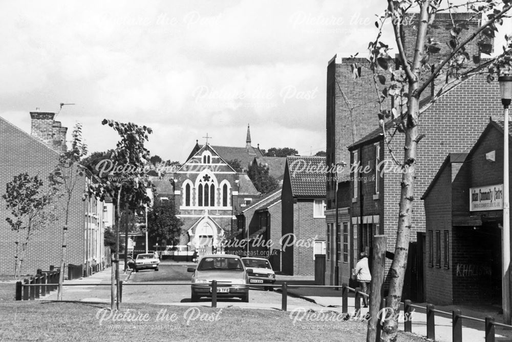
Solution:
[[[241,308],[123,304],[117,319],[104,304],[80,302],[0,302],[0,340],[366,340],[366,325],[336,321],[293,322],[290,312]],[[6,313],[6,314],[5,314]],[[304,313],[303,313],[304,314]],[[400,333],[398,341],[424,339]]]

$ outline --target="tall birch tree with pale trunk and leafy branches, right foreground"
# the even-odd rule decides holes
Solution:
[[[398,327],[397,317],[407,266],[409,234],[412,226],[416,152],[418,143],[423,138],[418,132],[418,127],[421,112],[428,108],[428,106],[423,107],[420,111],[420,97],[422,92],[437,80],[435,84],[439,86],[430,101],[432,104],[447,87],[470,76],[465,72],[466,65],[470,61],[479,64],[480,58],[478,55],[470,56],[466,52],[466,45],[477,40],[477,37],[481,35],[493,38],[497,32],[497,25],[501,25],[503,17],[510,10],[512,4],[509,0],[467,1],[463,5],[453,5],[449,2],[442,2],[442,0],[388,0],[387,5],[385,12],[378,16],[375,22],[378,33],[376,39],[370,42],[369,50],[375,91],[380,105],[379,126],[382,128],[385,144],[388,146],[392,159],[404,171],[407,171],[402,173],[395,256],[389,272],[390,289],[386,303],[392,312],[386,317],[381,336],[383,341],[395,341]],[[474,13],[473,18],[483,15],[486,18],[483,20],[483,25],[476,32],[463,35],[464,30],[467,30],[467,25],[465,23],[455,24],[455,21],[452,21],[450,39],[446,42],[437,41],[437,37],[432,36],[429,31],[436,13],[440,11],[452,13],[455,8],[461,6],[471,8]],[[407,46],[407,42],[402,37],[402,26],[409,20],[413,12],[418,17],[415,24],[416,39],[409,40],[413,42],[413,46]],[[398,49],[399,59],[396,62],[399,65],[398,69],[391,67],[391,57],[388,54],[389,45],[381,41],[382,28],[388,22],[391,22]],[[462,38],[463,36],[464,38]],[[440,56],[439,62],[432,63],[435,56],[439,56],[441,44],[444,43],[447,44],[450,51]],[[482,53],[490,53],[492,50],[492,44],[485,39],[478,39],[476,44]],[[505,52],[510,55],[508,51]],[[489,70],[489,73],[497,71],[499,69],[493,68]],[[354,75],[357,77],[357,73]],[[488,80],[492,79],[493,76],[490,75]],[[384,88],[379,91],[378,87],[381,85]],[[393,103],[394,106],[385,108],[389,103]],[[384,124],[388,118],[392,119],[391,126]],[[396,133],[404,134],[402,162],[395,157],[394,151],[390,147],[390,142]],[[378,306],[380,293],[372,293],[371,303]],[[368,340],[371,340],[370,335]]]

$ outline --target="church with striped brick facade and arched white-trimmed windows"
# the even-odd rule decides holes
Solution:
[[[200,255],[224,251],[224,241],[236,225],[233,213],[261,196],[247,174],[238,173],[228,161],[238,159],[244,168],[262,156],[251,146],[249,126],[245,147],[211,146],[208,140],[200,146],[196,141],[172,179],[176,211],[183,221],[180,245]]]

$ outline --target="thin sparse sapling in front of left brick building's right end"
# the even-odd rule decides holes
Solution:
[[[73,128],[71,148],[62,153],[59,163],[50,175],[52,187],[59,197],[63,197],[64,225],[62,226],[62,254],[60,258],[60,277],[57,300],[62,300],[62,283],[64,282],[64,266],[66,261],[66,233],[68,231],[71,200],[80,180],[83,180],[85,168],[78,164],[87,154],[87,145],[82,142],[82,125],[77,123]]]

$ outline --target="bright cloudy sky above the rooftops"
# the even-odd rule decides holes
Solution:
[[[113,119],[150,126],[147,147],[164,160],[184,162],[206,134],[243,147],[247,124],[253,146],[314,154],[326,146],[327,63],[368,55],[385,4],[3,0],[0,116],[29,132],[30,111],[58,112],[68,140],[83,125],[90,152],[115,148],[101,125]]]

